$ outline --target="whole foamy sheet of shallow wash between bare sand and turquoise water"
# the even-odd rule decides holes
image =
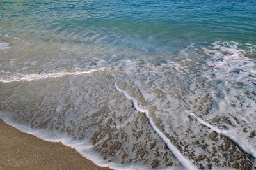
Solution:
[[[178,55],[3,71],[0,117],[114,169],[253,169],[255,45],[194,43]]]

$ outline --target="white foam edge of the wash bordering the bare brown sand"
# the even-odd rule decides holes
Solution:
[[[148,167],[145,167],[143,164],[132,163],[132,164],[118,164],[115,162],[109,162],[108,160],[102,159],[102,156],[99,153],[95,152],[93,149],[93,145],[87,139],[75,139],[72,136],[68,136],[67,134],[51,131],[49,129],[33,129],[28,125],[19,124],[17,122],[13,122],[12,118],[6,116],[0,111],[0,118],[8,125],[15,127],[21,132],[31,134],[36,136],[44,141],[51,142],[61,142],[63,145],[70,146],[75,148],[77,152],[79,152],[86,159],[91,160],[94,164],[100,167],[109,167],[111,169],[118,170],[148,170]],[[175,167],[167,167],[163,168],[163,170],[175,169]]]

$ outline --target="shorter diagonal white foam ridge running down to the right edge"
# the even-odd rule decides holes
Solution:
[[[191,115],[192,117],[194,117],[200,124],[205,125],[206,127],[209,127],[210,129],[212,129],[212,131],[216,131],[216,132],[218,132],[220,134],[223,134],[227,138],[230,138],[244,152],[246,152],[249,155],[251,155],[252,157],[256,158],[256,150],[255,150],[255,148],[250,146],[250,144],[248,142],[246,142],[246,140],[241,139],[239,136],[237,136],[236,132],[232,132],[232,131],[229,131],[229,130],[227,131],[227,130],[219,129],[218,127],[214,127],[213,125],[209,124],[208,122],[205,122],[201,118],[196,117],[196,115],[194,113],[191,113],[189,111],[186,111],[186,112],[189,113],[189,115]]]

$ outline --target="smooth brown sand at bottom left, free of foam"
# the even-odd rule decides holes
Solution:
[[[0,119],[0,169],[108,169],[61,143],[43,141]]]

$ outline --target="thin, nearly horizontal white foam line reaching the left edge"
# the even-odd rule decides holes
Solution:
[[[76,71],[73,73],[69,73],[69,72],[59,72],[59,73],[43,73],[43,74],[28,74],[24,77],[14,77],[12,80],[1,80],[0,82],[3,83],[10,83],[13,81],[36,81],[36,80],[42,80],[45,78],[59,78],[61,76],[67,76],[67,75],[79,75],[79,74],[89,74],[89,73],[93,73],[95,71],[102,71],[104,70],[104,68],[100,68],[100,69],[92,69],[89,71]]]

